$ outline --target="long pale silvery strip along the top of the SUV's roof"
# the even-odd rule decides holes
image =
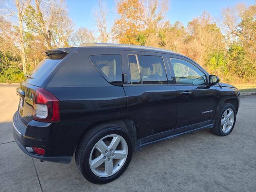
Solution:
[[[179,54],[170,50],[161,49],[161,48],[154,48],[154,47],[147,47],[147,46],[140,46],[140,45],[127,45],[127,44],[114,44],[114,43],[82,43],[78,47],[116,47],[116,48],[130,48],[136,49],[141,51],[153,51],[153,52],[165,52],[165,53],[175,53]],[[179,54],[181,55],[181,54]]]

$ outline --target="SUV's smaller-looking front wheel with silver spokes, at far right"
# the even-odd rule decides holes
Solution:
[[[226,117],[224,114],[225,112],[227,112]],[[230,114],[230,112],[232,113]],[[228,117],[228,115],[230,116]],[[230,122],[232,123],[232,125]],[[211,128],[210,130],[213,134],[216,134],[218,136],[226,136],[232,132],[235,126],[235,123],[236,123],[236,109],[232,104],[224,103],[218,117],[216,118],[214,127]],[[225,124],[226,124],[226,128],[225,128]]]

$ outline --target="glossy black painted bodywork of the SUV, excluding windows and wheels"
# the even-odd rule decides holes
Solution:
[[[134,148],[173,138],[201,128],[211,128],[224,102],[240,105],[239,91],[229,85],[178,85],[170,57],[186,60],[198,67],[207,78],[209,74],[186,56],[168,51],[129,47],[77,47],[59,62],[41,82],[40,87],[60,100],[60,122],[44,123],[32,120],[33,94],[38,86],[28,78],[20,84],[25,93],[19,121],[21,135],[14,138],[27,153],[25,146],[44,148],[47,157],[71,157],[83,134],[97,124],[112,123],[125,127],[134,139]],[[121,54],[122,78],[110,84],[89,60],[99,54]],[[129,54],[162,57],[168,84],[131,85]],[[121,77],[121,76],[120,76]],[[62,160],[61,160],[62,159]],[[68,162],[68,161],[66,161]]]

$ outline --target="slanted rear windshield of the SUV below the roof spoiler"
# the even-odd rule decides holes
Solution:
[[[26,78],[26,82],[35,86],[40,86],[48,74],[54,69],[61,59],[44,59],[30,73],[32,78]]]

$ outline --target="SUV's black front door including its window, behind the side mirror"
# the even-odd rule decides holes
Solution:
[[[174,134],[210,124],[217,93],[214,86],[208,86],[208,75],[192,60],[176,55],[167,57],[178,95]]]

